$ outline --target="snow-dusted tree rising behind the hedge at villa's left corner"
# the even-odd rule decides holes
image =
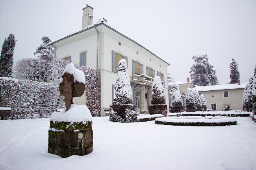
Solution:
[[[47,44],[49,44],[49,42],[51,42],[52,40],[50,40],[50,38],[46,36],[42,37],[41,40],[43,41],[43,44],[37,47],[34,55],[39,54],[37,57],[43,60],[52,60],[54,51],[52,48],[47,46]]]

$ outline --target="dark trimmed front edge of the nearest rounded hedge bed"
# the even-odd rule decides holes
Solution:
[[[236,125],[234,122],[165,122],[165,121],[155,121],[156,124],[173,125],[173,126],[226,126],[226,125]]]

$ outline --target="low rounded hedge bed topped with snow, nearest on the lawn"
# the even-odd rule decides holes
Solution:
[[[235,117],[213,117],[213,116],[180,116],[180,117],[160,117],[156,118],[156,124],[174,125],[174,126],[226,126],[236,125]]]

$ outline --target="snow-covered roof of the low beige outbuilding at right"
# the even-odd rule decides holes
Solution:
[[[228,90],[228,89],[240,89],[245,88],[246,82],[241,84],[222,84],[215,86],[197,86],[197,91],[211,91],[211,90]]]

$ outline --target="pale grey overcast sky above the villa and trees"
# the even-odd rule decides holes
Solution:
[[[256,0],[0,0],[0,43],[13,33],[14,61],[33,58],[41,37],[55,41],[81,30],[86,4],[94,8],[94,24],[106,18],[171,64],[167,72],[175,81],[186,81],[192,56],[202,54],[208,55],[220,84],[230,82],[232,58],[241,82],[253,73]]]

